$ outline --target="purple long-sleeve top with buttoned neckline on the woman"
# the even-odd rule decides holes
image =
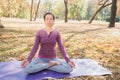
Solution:
[[[28,61],[32,60],[38,48],[40,48],[38,53],[39,58],[58,57],[56,55],[56,49],[55,49],[56,43],[58,43],[60,53],[62,54],[66,62],[69,62],[70,59],[68,58],[68,55],[66,54],[66,51],[64,49],[60,33],[57,30],[53,30],[50,32],[50,34],[47,34],[47,32],[44,29],[41,29],[37,32],[34,46],[27,60]]]

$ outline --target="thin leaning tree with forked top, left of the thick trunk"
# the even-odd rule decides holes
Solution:
[[[101,0],[101,1],[99,2],[99,5],[101,5],[101,6],[100,6],[100,8],[95,12],[95,14],[92,16],[92,18],[90,19],[89,23],[92,23],[92,21],[94,20],[94,18],[95,18],[96,15],[98,14],[98,12],[100,12],[103,8],[105,8],[105,7],[107,7],[107,6],[109,6],[109,5],[112,4],[112,3],[108,3],[108,1],[109,1],[109,0],[105,0],[105,1],[103,2],[103,0]]]

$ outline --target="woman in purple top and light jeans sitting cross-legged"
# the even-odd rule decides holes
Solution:
[[[55,17],[52,13],[45,13],[44,22],[46,27],[37,32],[34,46],[28,58],[22,62],[22,67],[25,68],[26,73],[35,73],[44,69],[70,73],[75,67],[74,62],[70,61],[64,50],[60,33],[53,29],[54,21]],[[66,62],[57,58],[56,43],[58,43],[60,52]],[[32,60],[39,46],[38,58]]]

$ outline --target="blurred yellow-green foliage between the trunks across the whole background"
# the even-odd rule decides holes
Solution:
[[[34,0],[35,14],[37,1]],[[0,16],[4,17],[30,17],[30,2],[31,0],[0,0]],[[94,12],[100,7],[96,0],[69,0],[68,1],[68,18],[82,20],[89,20]],[[38,12],[38,17],[43,17],[46,11],[51,11],[55,14],[56,18],[64,19],[65,8],[63,0],[42,0]],[[118,5],[119,15],[119,5]],[[106,16],[110,16],[110,7],[100,11],[96,16],[96,20],[105,20]]]

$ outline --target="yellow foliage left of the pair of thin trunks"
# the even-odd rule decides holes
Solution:
[[[29,12],[27,0],[0,0],[0,5],[0,16],[25,18]]]

